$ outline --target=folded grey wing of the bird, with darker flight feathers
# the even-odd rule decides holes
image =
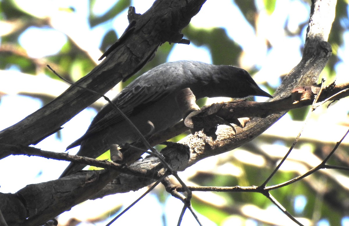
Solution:
[[[122,89],[112,102],[116,103],[126,116],[130,116],[143,106],[149,106],[151,103],[160,100],[173,92],[173,89],[178,86],[178,82],[182,82],[183,78],[177,76],[177,74],[181,74],[180,71],[183,69],[178,64],[178,62],[163,64],[162,67],[156,67],[144,73]],[[164,72],[172,76],[166,77]],[[122,120],[124,118],[119,112],[111,104],[106,104],[92,120],[87,132],[69,145],[67,149],[80,145],[81,141],[91,135]]]

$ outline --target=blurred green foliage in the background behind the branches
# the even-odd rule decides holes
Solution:
[[[257,21],[260,12],[255,5],[255,1],[234,0],[233,2],[239,7],[241,13],[257,33]],[[269,15],[273,14],[277,2],[278,1],[276,0],[263,0],[265,10]],[[310,7],[310,1],[304,2],[308,3]],[[88,22],[91,28],[103,25],[113,20],[113,18],[118,16],[121,11],[127,9],[131,5],[131,1],[115,1],[114,5],[111,6],[111,8],[103,15],[95,15],[93,13],[95,4],[98,4],[98,1],[89,1]],[[333,56],[330,58],[324,70],[329,79],[333,79],[335,77],[335,65],[340,61],[339,57],[337,56],[337,49],[340,46],[343,46],[343,32],[348,31],[349,28],[347,9],[347,1],[337,1],[336,17],[333,23],[332,32],[329,36],[329,42],[334,51]],[[71,11],[71,13],[73,12],[74,10]],[[23,31],[32,26],[38,28],[55,28],[52,27],[50,18],[32,16],[31,14],[23,11],[23,9],[19,8],[13,0],[0,1],[0,19],[3,22],[8,22],[13,25],[13,29],[10,32],[1,36],[0,69],[2,70],[15,66],[21,72],[28,73],[33,76],[37,75],[38,71],[44,70],[46,75],[57,79],[56,76],[54,76],[53,73],[45,66],[46,64],[52,64],[55,65],[55,68],[60,75],[68,80],[76,81],[86,75],[96,65],[96,59],[91,59],[86,50],[81,48],[76,40],[68,35],[67,42],[61,48],[59,53],[52,56],[46,56],[44,59],[36,59],[28,56],[18,42],[18,38],[21,36]],[[289,37],[300,37],[302,35],[302,30],[306,28],[306,26],[307,23],[299,24],[296,32],[290,32],[287,29],[287,25],[285,25],[284,30]],[[207,47],[214,64],[240,64],[239,60],[243,54],[243,49],[238,43],[228,36],[224,28],[202,29],[196,28],[190,24],[183,30],[183,34],[187,39],[190,39],[193,44]],[[104,52],[117,40],[117,38],[118,36],[116,30],[113,28],[107,29],[102,35],[100,50]],[[265,41],[268,45],[268,49],[273,48],[269,40]],[[147,63],[144,68],[136,73],[135,76],[127,80],[123,86],[129,84],[136,76],[139,76],[145,71],[166,62],[171,50],[173,49],[173,46],[174,44],[169,43],[164,43],[162,46],[160,46],[154,59]],[[97,56],[97,58],[98,57],[99,56]],[[251,70],[252,72],[257,72],[259,69],[252,68]],[[272,89],[272,86],[269,85],[268,82],[266,82],[265,86],[268,87],[269,90]],[[292,110],[289,112],[289,114],[293,120],[303,120],[308,111],[309,108],[302,108]],[[285,130],[287,130],[287,128],[285,128]],[[178,141],[185,135],[182,134],[179,137],[172,139],[172,141]],[[263,139],[259,139],[258,142],[270,144],[272,142],[280,141],[280,139],[283,140],[283,137],[279,137],[277,139],[265,136]],[[251,153],[257,153],[259,157],[263,158],[263,160],[266,162],[263,164],[263,166],[253,163],[240,162],[237,158],[229,156],[227,159],[225,159],[225,161],[218,164],[217,167],[224,164],[231,164],[231,166],[238,167],[240,169],[241,173],[239,176],[229,172],[222,173],[221,171],[201,171],[190,177],[190,180],[201,186],[260,185],[273,171],[275,164],[280,161],[280,158],[261,153],[259,143],[256,142],[253,145],[253,142],[255,141],[250,142],[249,146],[246,145],[246,147],[248,147],[248,150],[251,151]],[[292,142],[293,140],[287,140],[286,138],[283,140],[283,144],[287,147],[289,147]],[[314,155],[323,159],[326,148],[328,147],[320,142],[320,144],[314,148]],[[346,148],[348,147],[346,146]],[[344,152],[344,150],[342,151]],[[334,157],[331,159],[332,162],[330,162],[332,164],[338,164],[340,162],[341,165],[348,166],[348,162],[345,161],[345,158],[344,160],[341,158],[343,155]],[[107,155],[101,156],[101,158],[105,159],[107,158],[106,156]],[[300,162],[301,160],[302,159],[299,159],[298,161]],[[305,163],[302,164],[306,165]],[[348,173],[345,174],[348,176]],[[270,180],[269,184],[280,184],[298,175],[299,173],[296,170],[279,171],[276,176]],[[271,194],[280,203],[282,203],[292,215],[296,217],[313,219],[314,222],[319,219],[326,218],[329,220],[331,225],[340,225],[341,219],[348,215],[349,212],[348,190],[343,186],[339,186],[338,181],[334,180],[333,178],[328,178],[328,175],[321,172],[312,174],[310,178],[310,180],[302,180],[297,183],[273,190]],[[322,194],[314,188],[314,185],[323,180],[328,183],[328,189],[324,189],[326,192]],[[227,202],[225,205],[208,203],[195,196],[193,200],[194,208],[202,215],[205,215],[207,218],[211,219],[217,225],[222,224],[222,222],[231,215],[242,214],[240,207],[244,204],[258,206],[261,209],[266,209],[271,205],[270,201],[265,196],[258,193],[219,193],[218,195],[225,198]],[[297,212],[294,208],[294,200],[297,196],[306,197],[305,208],[303,208],[300,212]],[[159,193],[159,200],[164,202],[165,195],[163,193]],[[114,212],[115,210],[112,211]],[[315,213],[318,214],[316,217],[314,217],[316,215]],[[101,219],[104,218],[106,218],[106,216],[101,217]],[[248,217],[245,218],[247,219]],[[258,225],[263,225],[263,223]]]

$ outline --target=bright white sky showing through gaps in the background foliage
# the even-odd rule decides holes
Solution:
[[[79,42],[80,46],[83,46],[88,49],[89,52],[95,54],[96,59],[100,56],[98,47],[105,30],[114,28],[120,37],[128,25],[126,9],[111,22],[107,22],[91,30],[86,23],[88,11],[86,0],[16,0],[16,2],[23,5],[23,8],[27,8],[27,10],[31,11],[34,15],[51,15],[52,24],[54,24],[58,30],[74,37],[74,39]],[[136,13],[142,14],[149,9],[153,2],[153,0],[133,0],[132,6],[136,8]],[[257,83],[267,79],[272,85],[277,86],[279,84],[279,76],[287,73],[299,62],[301,58],[299,47],[304,43],[304,38],[285,37],[283,30],[285,21],[288,19],[288,25],[291,31],[296,30],[299,23],[304,23],[308,20],[310,9],[300,0],[277,1],[275,12],[272,15],[261,13],[258,22],[258,31],[255,33],[232,2],[233,1],[231,0],[220,0],[219,4],[217,4],[217,1],[215,0],[207,0],[199,14],[192,19],[192,25],[206,29],[213,27],[225,28],[229,36],[243,47],[244,57],[241,66],[248,70],[248,68],[253,67],[253,65],[257,65],[261,68],[254,77]],[[256,0],[256,2],[258,8],[262,10],[263,1]],[[114,0],[98,0],[94,13],[103,14],[111,5],[113,5],[113,3]],[[32,7],[37,5],[41,6],[38,10]],[[68,14],[62,10],[57,10],[59,7],[66,8],[70,6],[73,6],[76,9],[74,14]],[[46,8],[46,10],[43,10],[44,8]],[[44,57],[57,53],[62,45],[64,45],[67,38],[62,32],[53,29],[31,28],[23,33],[19,41],[30,56]],[[346,33],[344,40],[347,39],[347,36],[348,33]],[[305,31],[303,31],[303,37],[305,37]],[[267,52],[265,39],[268,39],[274,47],[269,50],[269,52]],[[338,77],[341,79],[342,77],[347,76],[348,68],[346,65],[348,65],[349,52],[347,51],[347,46],[339,49],[338,52],[343,58],[343,63],[337,65]],[[211,63],[211,58],[207,49],[205,47],[198,48],[193,44],[189,46],[176,44],[176,47],[173,49],[167,60],[176,61],[185,59]],[[16,69],[12,68],[12,70]],[[0,77],[0,79],[4,78]],[[4,82],[4,80],[0,81]],[[18,122],[41,106],[42,103],[37,99],[17,95],[2,97],[0,102],[0,130]],[[55,135],[52,135],[40,142],[36,147],[51,151],[64,151],[65,147],[79,138],[86,131],[95,114],[96,112],[91,109],[82,111],[77,117],[64,125],[64,129],[61,131],[62,140],[58,140]],[[80,130],[76,130],[76,128],[79,128]],[[76,151],[77,149],[71,150],[70,153],[74,154]],[[29,157],[25,156],[9,156],[6,159],[0,160],[0,171],[11,171],[11,174],[0,174],[0,192],[13,193],[33,182],[38,183],[56,179],[67,165],[59,161],[51,161],[39,157],[30,157],[30,161],[28,158]],[[37,161],[34,161],[34,159]],[[16,162],[15,166],[13,165],[13,162]],[[18,169],[20,170],[16,171]],[[121,197],[118,196],[118,198]],[[109,200],[111,199],[112,197],[109,198]],[[153,201],[150,202],[156,202],[155,197],[151,195],[148,195],[144,201],[149,202],[149,200],[152,199]],[[133,198],[128,199],[128,202],[131,203],[132,201]],[[110,204],[112,202],[109,201],[108,203]],[[177,202],[175,199],[173,199],[168,205],[172,205],[172,208],[168,206],[163,208],[181,209],[181,203],[179,203],[179,201]],[[173,205],[179,206],[174,207]],[[138,206],[140,207],[137,207],[136,205],[133,208],[135,210],[141,208],[137,211],[138,214],[141,212],[148,214],[147,211],[143,211],[143,205],[139,204]],[[161,214],[161,209],[158,210],[158,212]],[[90,214],[93,213],[85,212],[85,216],[91,216]],[[189,214],[187,214],[187,216],[188,215]],[[146,216],[144,215],[144,217]],[[170,219],[169,222],[176,221],[178,215],[173,217],[174,218]],[[124,219],[127,218],[127,216],[124,216]],[[142,216],[139,216],[139,218],[141,219]],[[191,216],[188,218],[191,218]],[[160,216],[154,217],[154,220],[159,219],[161,219]],[[118,222],[122,225],[123,221],[120,219]],[[185,223],[184,225],[192,224],[192,221],[188,219],[184,220],[184,222],[188,223]],[[160,222],[158,224],[155,222],[153,223],[153,225],[161,224]],[[207,222],[205,225],[214,224]],[[249,225],[255,225],[255,222],[251,221]]]

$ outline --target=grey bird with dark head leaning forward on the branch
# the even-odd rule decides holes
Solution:
[[[190,88],[196,99],[204,97],[243,98],[266,96],[244,69],[197,61],[161,64],[136,78],[112,100],[138,127],[142,134],[162,131],[181,119],[175,100],[178,91]],[[80,145],[77,155],[97,158],[113,144],[132,143],[139,137],[111,106],[106,104],[92,120],[87,132],[67,147]],[[70,163],[61,177],[73,174],[86,165]]]

